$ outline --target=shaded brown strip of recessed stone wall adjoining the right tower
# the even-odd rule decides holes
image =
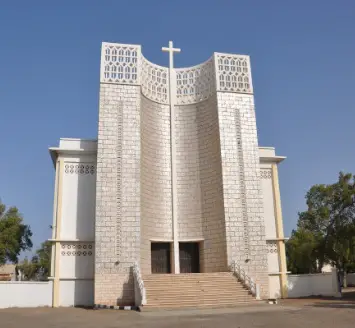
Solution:
[[[227,264],[222,160],[217,98],[196,106],[198,178],[201,194],[203,272],[225,271]]]

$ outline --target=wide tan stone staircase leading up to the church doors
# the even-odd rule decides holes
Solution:
[[[143,281],[144,309],[233,307],[256,302],[230,272],[150,274]]]

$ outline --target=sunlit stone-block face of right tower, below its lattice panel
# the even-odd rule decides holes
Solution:
[[[228,263],[237,261],[268,297],[267,250],[254,98],[218,92]]]

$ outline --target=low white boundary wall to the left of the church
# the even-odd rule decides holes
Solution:
[[[52,282],[0,282],[0,308],[52,306]]]

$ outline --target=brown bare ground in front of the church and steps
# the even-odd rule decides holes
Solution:
[[[353,299],[285,300],[233,309],[134,312],[77,308],[0,310],[0,328],[350,328]]]

